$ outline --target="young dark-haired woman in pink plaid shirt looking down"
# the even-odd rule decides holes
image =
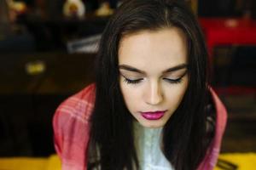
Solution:
[[[96,64],[96,83],[55,112],[62,169],[215,166],[226,111],[207,82],[206,45],[185,3],[124,2]]]

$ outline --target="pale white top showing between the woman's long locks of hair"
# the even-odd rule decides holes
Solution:
[[[160,150],[162,127],[143,127],[134,121],[134,131],[140,170],[174,170]]]

